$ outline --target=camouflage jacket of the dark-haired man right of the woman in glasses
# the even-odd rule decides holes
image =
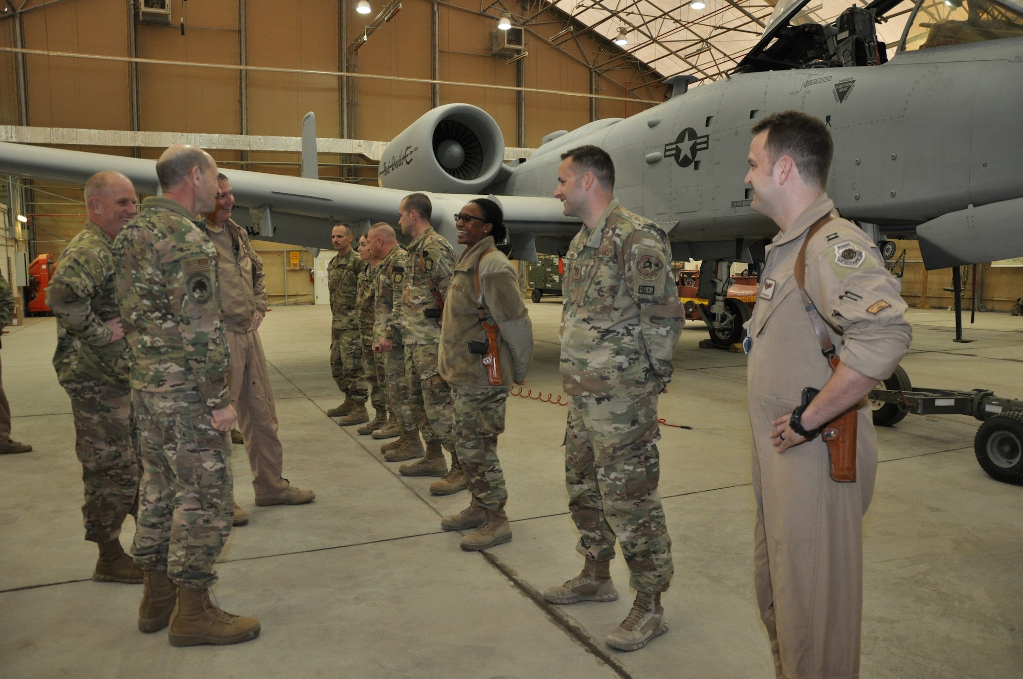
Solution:
[[[637,396],[671,380],[685,322],[660,228],[612,200],[565,256],[562,381],[572,396]]]

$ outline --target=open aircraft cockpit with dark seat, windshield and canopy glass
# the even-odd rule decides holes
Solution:
[[[874,0],[865,7],[846,8],[832,24],[816,22],[808,2],[780,0],[760,42],[735,73],[885,63],[888,45],[878,36],[877,26],[909,12],[899,51],[1023,37],[1023,6],[1017,0],[917,0],[911,9],[891,17],[886,13],[908,3]],[[890,32],[888,36],[895,37]]]

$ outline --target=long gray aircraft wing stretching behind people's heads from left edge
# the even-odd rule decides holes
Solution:
[[[105,155],[0,142],[0,174],[85,184],[102,170],[123,173],[142,193],[158,193],[155,161]],[[410,191],[262,172],[225,170],[234,190],[234,220],[254,237],[310,248],[330,245],[330,228],[338,222],[363,231],[375,222],[398,223],[398,205]],[[428,193],[434,203],[431,220],[455,243],[453,215],[480,194]],[[575,218],[562,214],[553,197],[499,196],[511,234],[513,256],[536,259],[534,234],[571,236],[579,228]]]

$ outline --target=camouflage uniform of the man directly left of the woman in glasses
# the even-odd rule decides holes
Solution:
[[[421,259],[420,259],[421,258]],[[447,238],[428,228],[408,245],[405,284],[401,290],[401,327],[405,340],[405,378],[409,405],[428,445],[439,442],[455,457],[451,392],[437,372],[441,328],[425,309],[439,309],[428,282],[441,299],[454,269],[454,250]]]

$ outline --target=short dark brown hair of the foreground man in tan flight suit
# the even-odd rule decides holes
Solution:
[[[835,144],[819,118],[799,110],[786,110],[763,119],[753,126],[752,132],[754,136],[767,133],[764,148],[770,156],[771,166],[783,155],[788,155],[807,184],[824,188],[835,154]]]

